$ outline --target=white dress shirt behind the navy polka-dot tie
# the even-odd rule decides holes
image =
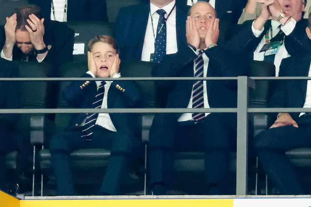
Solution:
[[[168,16],[169,12],[173,9],[175,5],[175,0],[163,7],[166,11],[165,18]],[[153,19],[153,29],[156,31],[158,28],[158,22],[160,15],[156,13],[160,8],[150,3],[150,14]],[[142,47],[142,61],[150,61],[150,55],[155,52],[155,38],[153,36],[151,17],[149,14],[146,34],[144,39],[144,46]],[[178,51],[177,49],[177,37],[176,37],[176,7],[172,11],[171,15],[166,21],[166,54],[174,54]]]

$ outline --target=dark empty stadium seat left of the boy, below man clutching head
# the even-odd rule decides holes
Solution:
[[[51,66],[47,63],[16,61],[21,78],[46,78],[48,77]],[[21,104],[23,109],[44,109],[47,106],[46,81],[21,81]],[[36,125],[37,120],[46,120],[44,114],[21,114],[18,121],[19,132],[23,136],[30,137],[30,142],[43,136],[44,129]],[[41,147],[41,146],[40,146]],[[29,152],[32,156],[32,151]],[[26,158],[22,157],[17,151],[11,152],[6,156],[6,166],[10,170],[20,171],[20,165],[25,165]],[[24,163],[23,163],[24,162]],[[28,166],[25,166],[28,167]],[[30,167],[30,166],[29,166]],[[22,167],[24,169],[24,167]],[[29,168],[32,174],[33,167]],[[19,172],[23,173],[23,172]]]

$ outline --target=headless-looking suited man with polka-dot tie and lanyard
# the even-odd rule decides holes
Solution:
[[[121,8],[115,37],[120,57],[129,61],[160,62],[186,43],[187,7],[176,0],[150,0],[150,3]]]

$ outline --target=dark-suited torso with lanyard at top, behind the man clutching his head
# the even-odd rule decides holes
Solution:
[[[41,8],[46,19],[65,21],[108,21],[106,0],[29,0]]]

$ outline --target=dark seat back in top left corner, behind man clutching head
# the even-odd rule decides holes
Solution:
[[[10,17],[15,8],[28,5],[28,1],[23,0],[2,0],[0,1],[0,25],[5,25],[6,17]]]

